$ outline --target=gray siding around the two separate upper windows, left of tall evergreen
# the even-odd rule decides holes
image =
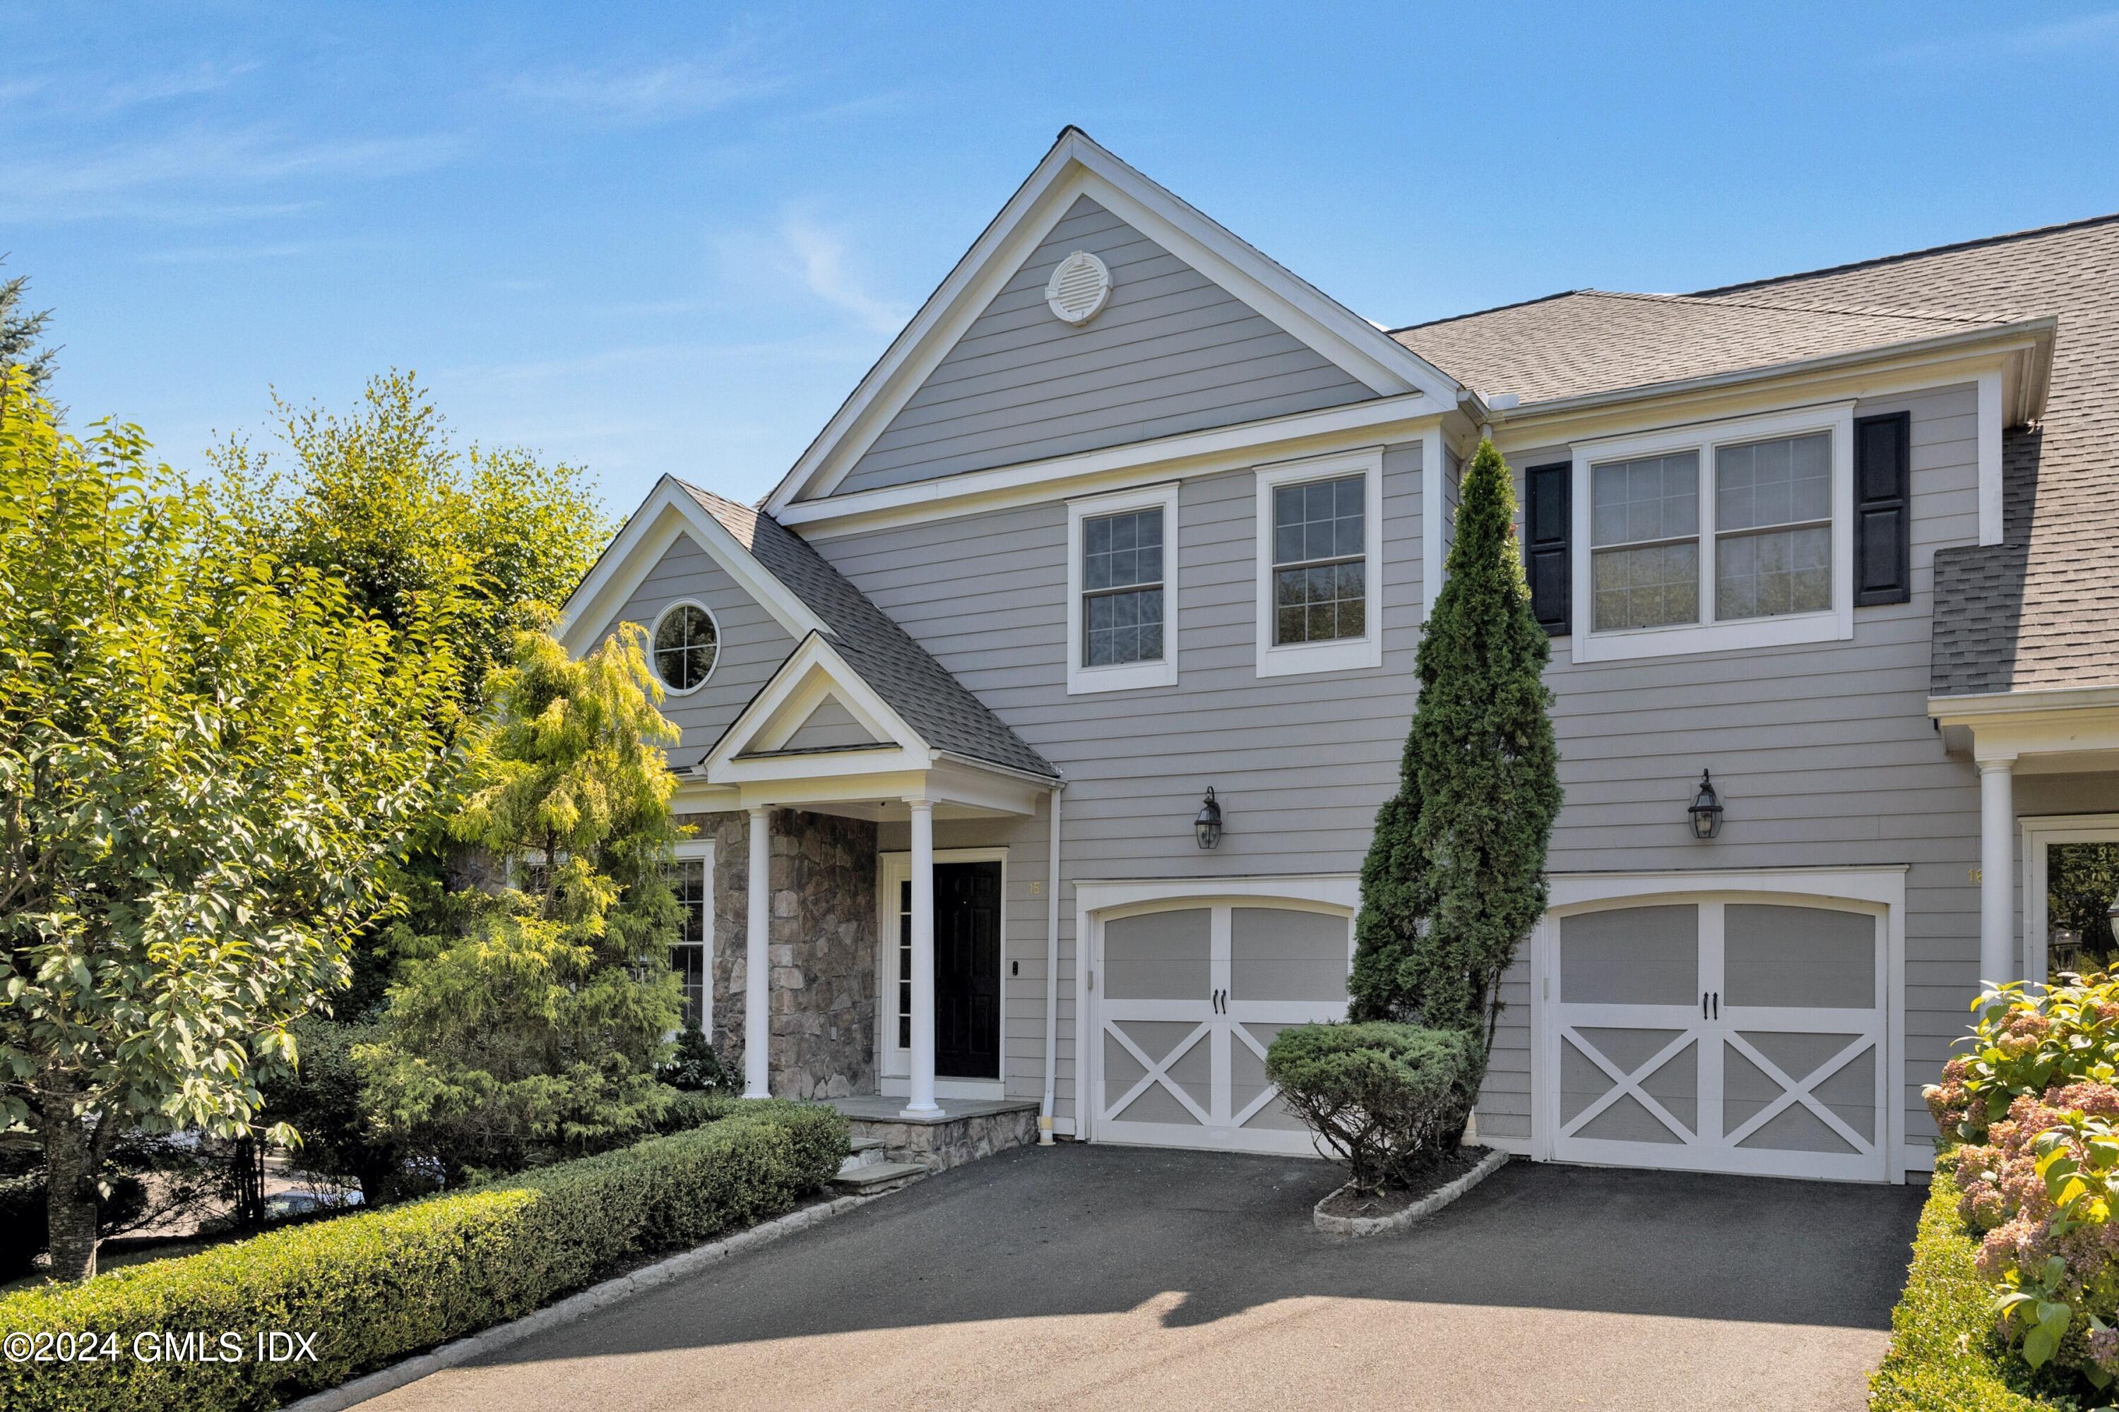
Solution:
[[[1060,1114],[1074,1114],[1076,879],[1354,872],[1396,781],[1420,635],[1420,447],[1384,455],[1384,665],[1257,675],[1257,483],[1178,493],[1178,682],[1066,694],[1066,506],[1040,504],[865,536],[818,550],[1068,779],[1060,889]],[[966,605],[973,605],[971,610]],[[1191,819],[1223,800],[1221,849]],[[939,821],[937,847],[1009,847],[1004,1075],[1038,1097],[1045,1065],[1045,817]],[[886,826],[886,851],[905,849]]]

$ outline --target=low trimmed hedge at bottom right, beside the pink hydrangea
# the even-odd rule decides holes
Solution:
[[[2072,1401],[2022,1393],[2019,1359],[2000,1351],[1994,1291],[1973,1270],[1979,1245],[1958,1217],[1958,1185],[1939,1162],[1920,1209],[1913,1266],[1890,1310],[1890,1351],[1869,1376],[1869,1412],[2062,1412]]]

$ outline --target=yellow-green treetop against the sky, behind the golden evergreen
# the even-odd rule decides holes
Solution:
[[[233,438],[210,453],[259,546],[343,576],[392,627],[445,622],[462,716],[475,720],[515,635],[572,593],[610,538],[585,472],[458,447],[415,373],[371,379],[343,417],[275,396],[273,421],[280,451]]]

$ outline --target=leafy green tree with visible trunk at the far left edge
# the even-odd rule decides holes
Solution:
[[[254,1126],[390,904],[453,675],[0,375],[0,1128],[44,1147],[55,1274],[95,1272],[121,1133]]]

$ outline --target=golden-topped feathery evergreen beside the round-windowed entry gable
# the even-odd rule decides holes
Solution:
[[[354,1050],[379,1126],[451,1177],[653,1124],[680,1022],[661,754],[678,737],[646,635],[627,624],[581,660],[545,633],[517,641],[451,823],[517,885],[462,898],[468,929],[405,963],[377,1039]]]

